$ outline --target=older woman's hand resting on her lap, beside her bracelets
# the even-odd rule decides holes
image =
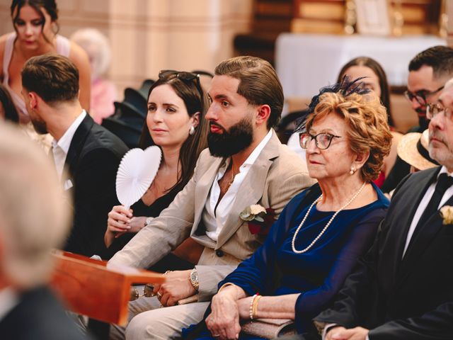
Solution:
[[[206,318],[206,326],[216,339],[239,338],[238,305],[231,295],[218,293],[212,297],[211,314]]]

